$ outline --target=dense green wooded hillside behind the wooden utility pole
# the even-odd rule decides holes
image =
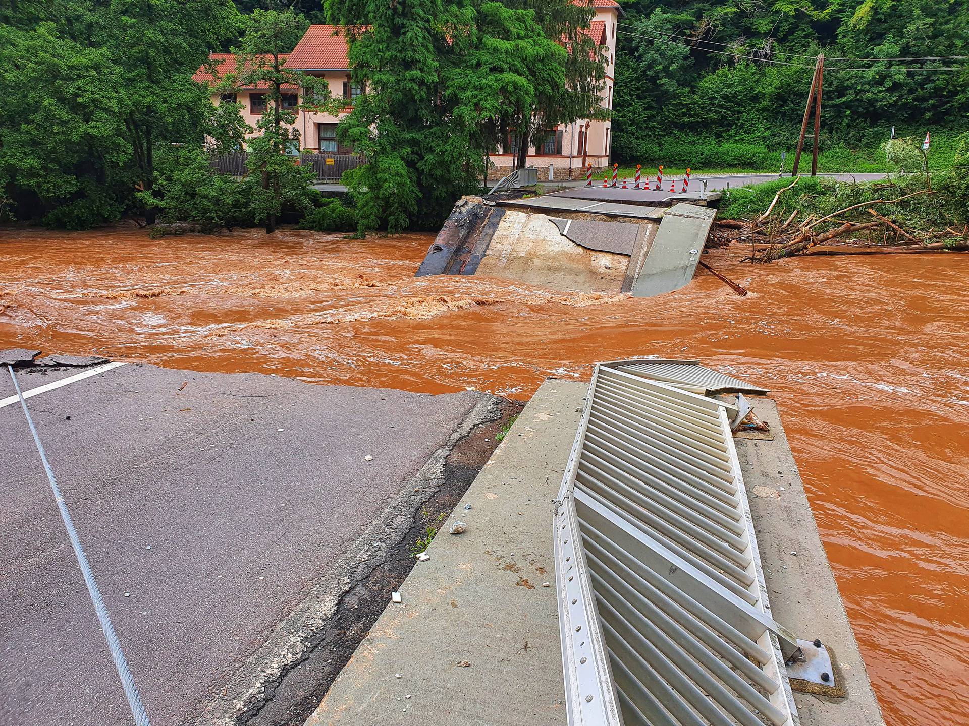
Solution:
[[[820,53],[825,170],[889,170],[881,144],[892,126],[919,139],[930,131],[930,164],[950,166],[969,128],[967,0],[635,0],[623,8],[613,121],[620,161],[778,168],[797,142]],[[939,56],[956,57],[900,60]],[[943,70],[951,68],[962,70]]]

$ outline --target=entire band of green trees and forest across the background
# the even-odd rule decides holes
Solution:
[[[776,169],[793,150],[819,53],[828,59],[822,170],[890,170],[891,126],[899,136],[932,132],[931,168],[949,168],[965,147],[969,0],[636,0],[623,9],[620,162]],[[510,129],[537,134],[595,112],[602,71],[580,32],[591,16],[570,0],[4,3],[0,221],[434,228],[456,197],[479,188],[487,152]],[[309,22],[366,28],[350,51],[366,92],[338,131],[369,162],[346,178],[352,210],[313,193],[308,172],[281,157],[294,135],[279,88],[313,79],[257,62],[278,60]],[[212,50],[249,62],[227,83],[269,84],[277,112],[258,128],[234,104],[213,106],[192,80]],[[327,102],[321,90],[314,104]],[[216,174],[209,153],[246,135],[250,173]]]

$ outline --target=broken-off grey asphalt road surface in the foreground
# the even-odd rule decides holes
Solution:
[[[27,404],[156,726],[271,698],[238,682],[292,667],[273,644],[298,655],[321,583],[406,532],[422,469],[494,413],[474,392],[134,364]],[[0,408],[0,458],[0,724],[130,723],[18,404]]]

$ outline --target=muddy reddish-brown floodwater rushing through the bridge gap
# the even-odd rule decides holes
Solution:
[[[0,231],[0,348],[525,399],[696,357],[773,392],[891,726],[969,724],[969,255],[706,260],[652,299],[413,277],[432,237]]]

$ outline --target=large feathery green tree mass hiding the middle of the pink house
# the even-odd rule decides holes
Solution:
[[[592,42],[575,18],[590,11],[569,5],[567,18],[544,25],[549,7],[327,0],[333,22],[354,25],[350,65],[364,88],[338,128],[367,159],[345,176],[360,233],[439,226],[456,197],[480,189],[487,153],[506,130],[527,145],[531,130],[598,107],[594,79],[570,76],[588,62],[578,59]]]

